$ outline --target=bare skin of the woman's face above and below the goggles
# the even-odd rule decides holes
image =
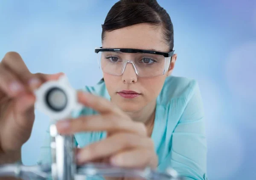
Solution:
[[[106,32],[102,42],[103,48],[134,48],[168,52],[169,47],[163,42],[160,28],[148,23],[132,25],[126,28]],[[103,73],[111,101],[125,112],[138,112],[150,104],[154,104],[162,90],[166,77],[172,73],[176,61],[176,54],[168,73],[155,77],[140,77],[128,63],[121,76]],[[119,93],[122,90],[132,90],[140,93],[135,98],[125,98]]]

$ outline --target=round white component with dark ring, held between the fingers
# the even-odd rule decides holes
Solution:
[[[73,110],[81,110],[76,90],[71,87],[67,76],[57,81],[48,81],[35,91],[36,109],[45,113],[52,120],[69,118]]]

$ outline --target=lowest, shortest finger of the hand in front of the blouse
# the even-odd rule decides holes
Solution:
[[[145,168],[147,166],[156,168],[158,164],[157,155],[154,151],[146,148],[136,148],[120,152],[110,159],[115,166]]]

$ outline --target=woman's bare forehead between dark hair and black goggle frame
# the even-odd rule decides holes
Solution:
[[[105,33],[103,48],[134,48],[155,51],[168,51],[163,42],[161,29],[148,23],[140,23]]]

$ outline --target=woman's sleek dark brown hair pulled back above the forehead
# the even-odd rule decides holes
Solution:
[[[102,41],[106,31],[113,31],[139,23],[161,27],[164,42],[173,50],[173,25],[169,14],[157,0],[119,0],[107,14],[102,25]],[[104,79],[102,79],[104,80]]]

